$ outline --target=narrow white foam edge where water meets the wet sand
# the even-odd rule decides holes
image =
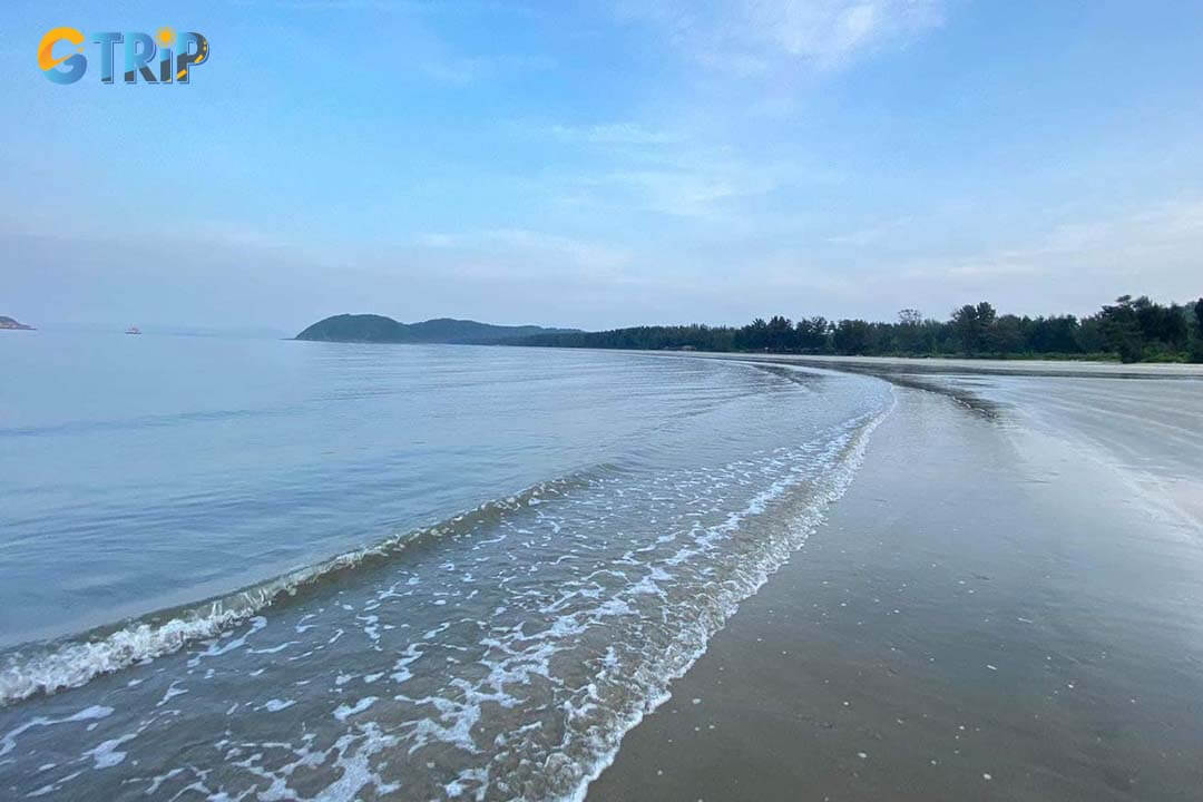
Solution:
[[[823,523],[823,521],[825,519],[825,516],[823,515],[823,510],[825,509],[825,506],[830,506],[835,501],[838,501],[843,497],[843,494],[848,491],[848,487],[852,485],[852,480],[855,477],[857,471],[860,469],[861,463],[865,461],[865,450],[869,446],[870,435],[882,423],[882,421],[884,421],[887,417],[890,416],[890,414],[894,412],[896,408],[897,408],[897,392],[894,390],[894,386],[891,385],[890,405],[884,410],[882,410],[882,412],[879,412],[872,420],[870,420],[857,433],[855,439],[851,445],[848,457],[845,461],[843,465],[841,467],[838,476],[836,477],[835,482],[832,482],[830,489],[824,494],[823,500],[826,503],[826,505],[819,509],[813,518],[810,518],[804,523],[804,529],[802,531],[799,533],[800,536],[798,540],[798,547],[801,547],[801,543],[805,542],[810,537],[810,535],[813,534],[814,530],[818,529],[818,527]],[[796,551],[796,548],[794,551]],[[688,672],[689,669],[692,669],[693,665],[701,658],[701,655],[706,653],[706,647],[710,646],[710,638],[712,638],[716,632],[718,632],[723,626],[725,626],[730,617],[734,616],[735,612],[739,610],[739,606],[742,601],[754,596],[760,590],[760,588],[764,587],[764,583],[769,581],[769,577],[776,574],[777,570],[781,569],[782,565],[784,565],[786,559],[788,559],[788,557],[789,557],[788,554],[781,556],[778,559],[772,560],[768,565],[760,566],[760,570],[758,571],[755,580],[751,584],[746,586],[746,592],[742,593],[742,595],[733,596],[728,601],[725,608],[723,610],[719,617],[719,620],[716,622],[713,629],[704,637],[703,642],[698,646],[698,648],[695,648],[693,653],[677,669],[665,675],[664,684],[660,689],[660,693],[650,696],[641,709],[636,711],[632,715],[628,715],[623,721],[618,724],[618,726],[615,729],[612,737],[610,738],[610,744],[609,744],[610,748],[602,755],[599,755],[593,761],[593,764],[585,771],[585,774],[582,776],[580,783],[577,783],[576,788],[573,789],[570,792],[563,795],[562,797],[558,797],[557,802],[585,802],[585,797],[587,796],[589,790],[589,784],[592,784],[593,780],[600,777],[602,772],[604,772],[606,768],[614,765],[615,759],[618,756],[618,749],[622,745],[622,738],[633,729],[639,726],[639,724],[644,720],[645,717],[650,715],[660,705],[672,699],[672,691],[669,690],[670,685],[675,681],[683,677],[686,672]]]

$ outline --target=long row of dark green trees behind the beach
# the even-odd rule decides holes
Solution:
[[[1203,362],[1203,298],[1168,305],[1120,296],[1085,317],[1000,315],[983,301],[948,320],[903,309],[895,322],[783,315],[747,326],[636,326],[604,332],[540,334],[518,345],[638,350],[761,351],[857,356],[985,358],[1118,358],[1124,362]]]

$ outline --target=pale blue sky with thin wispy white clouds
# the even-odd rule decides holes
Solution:
[[[105,85],[87,44],[60,85],[36,60],[57,25],[198,31],[211,58]],[[1199,42],[1190,0],[10,0],[0,314],[291,333],[1186,301]]]

